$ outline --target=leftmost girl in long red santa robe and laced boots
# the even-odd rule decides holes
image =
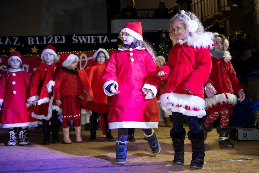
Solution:
[[[16,127],[21,127],[20,145],[29,143],[28,126],[38,124],[38,120],[31,116],[33,111],[29,98],[30,75],[22,67],[19,52],[9,55],[6,72],[0,78],[0,126],[9,128],[9,146],[17,144]]]

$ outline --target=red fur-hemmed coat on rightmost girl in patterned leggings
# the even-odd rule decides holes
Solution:
[[[218,103],[222,104],[223,102],[234,106],[237,104],[237,96],[234,95],[234,93],[238,95],[238,91],[241,89],[244,90],[244,87],[236,77],[230,59],[230,54],[227,54],[226,57],[222,57],[221,59],[211,56],[212,69],[207,83],[211,83],[217,93],[212,98],[204,94],[206,109],[214,107]],[[230,110],[230,112],[232,112],[232,110]]]

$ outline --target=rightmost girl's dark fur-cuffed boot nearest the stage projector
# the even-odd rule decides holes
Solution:
[[[230,127],[217,127],[217,133],[219,134],[219,141],[218,143],[226,148],[234,148],[234,144],[229,141],[228,133],[230,132]]]

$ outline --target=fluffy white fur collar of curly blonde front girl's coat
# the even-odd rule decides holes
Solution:
[[[208,48],[212,49],[214,45],[214,34],[212,32],[203,32],[201,35],[194,34],[193,36],[187,36],[187,46],[193,46],[196,48]],[[180,43],[179,40],[176,43]]]

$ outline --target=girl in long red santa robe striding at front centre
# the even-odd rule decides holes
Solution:
[[[158,128],[156,94],[160,80],[152,46],[143,41],[140,22],[126,23],[121,30],[122,48],[118,48],[103,72],[104,92],[111,97],[109,128],[118,128],[115,164],[126,163],[128,128],[141,128],[153,154],[160,145],[153,128]]]

